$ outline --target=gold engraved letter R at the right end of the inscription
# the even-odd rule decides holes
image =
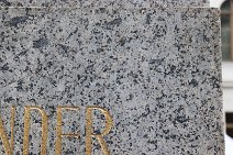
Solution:
[[[95,134],[92,131],[92,111],[93,110],[101,111],[103,113],[103,115],[106,117],[106,129],[101,134]],[[100,107],[88,107],[87,108],[87,112],[86,112],[86,155],[91,155],[92,137],[97,137],[97,140],[100,143],[103,154],[110,155],[110,152],[108,151],[108,147],[103,140],[103,136],[107,135],[111,131],[112,126],[113,126],[113,121],[112,121],[110,113],[107,110],[104,110]]]

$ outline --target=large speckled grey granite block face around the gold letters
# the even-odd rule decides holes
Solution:
[[[10,134],[16,106],[15,154],[24,106],[46,111],[49,155],[57,106],[81,107],[63,118],[64,132],[81,133],[63,139],[66,155],[85,154],[84,110],[101,106],[113,118],[111,155],[223,155],[218,10],[1,8],[0,23],[1,114]],[[30,154],[38,154],[37,112],[31,129]],[[97,141],[93,154],[102,154]]]

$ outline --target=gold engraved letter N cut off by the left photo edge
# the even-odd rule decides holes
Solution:
[[[9,144],[8,136],[4,132],[3,121],[0,119],[0,136],[7,155],[13,155],[14,118],[15,118],[15,107],[11,107],[11,145]]]

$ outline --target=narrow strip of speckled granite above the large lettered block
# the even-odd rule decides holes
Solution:
[[[209,7],[209,0],[0,0],[1,7]]]

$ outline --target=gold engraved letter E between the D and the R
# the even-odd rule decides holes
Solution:
[[[55,146],[55,151],[56,151],[56,155],[62,155],[62,137],[63,136],[67,136],[67,137],[77,137],[79,139],[79,133],[63,133],[63,109],[66,110],[75,110],[75,111],[79,111],[79,107],[58,107],[57,108],[57,139],[56,139],[56,146]]]

